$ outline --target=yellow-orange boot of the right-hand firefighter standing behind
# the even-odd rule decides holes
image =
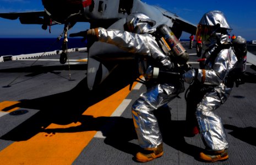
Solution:
[[[228,159],[227,149],[221,151],[205,151],[201,152],[201,160],[206,162],[224,161]]]

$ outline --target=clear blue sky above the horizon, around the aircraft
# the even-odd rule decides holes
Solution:
[[[143,2],[165,8],[195,25],[209,10],[221,10],[233,28],[231,35],[241,35],[248,41],[256,40],[256,1],[143,0]],[[0,0],[0,13],[38,10],[43,10],[41,0]],[[41,25],[22,25],[19,20],[0,18],[0,37],[58,37],[63,31],[63,25],[55,25],[51,28],[52,33],[49,34],[48,30],[41,29]],[[88,28],[88,23],[79,23],[69,32]],[[188,36],[189,34],[184,33],[181,38],[186,39]]]

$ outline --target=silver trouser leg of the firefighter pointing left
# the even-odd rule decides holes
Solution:
[[[133,103],[132,116],[140,147],[155,148],[162,143],[159,124],[153,111],[175,98],[177,92],[179,90],[175,86],[158,84],[141,94]]]

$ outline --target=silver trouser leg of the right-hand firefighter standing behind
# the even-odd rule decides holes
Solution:
[[[206,149],[219,151],[228,148],[226,132],[221,118],[214,114],[214,110],[221,105],[219,94],[206,93],[203,100],[199,102],[195,115],[197,116],[200,133],[206,145]]]

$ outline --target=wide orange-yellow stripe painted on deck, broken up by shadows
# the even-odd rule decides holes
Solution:
[[[82,115],[94,118],[110,117],[129,92],[129,86],[124,87],[89,107]],[[79,122],[68,125],[50,124],[45,130],[78,127],[80,124]],[[72,164],[96,133],[97,130],[74,133],[41,132],[29,140],[14,142],[2,150],[0,164]]]

